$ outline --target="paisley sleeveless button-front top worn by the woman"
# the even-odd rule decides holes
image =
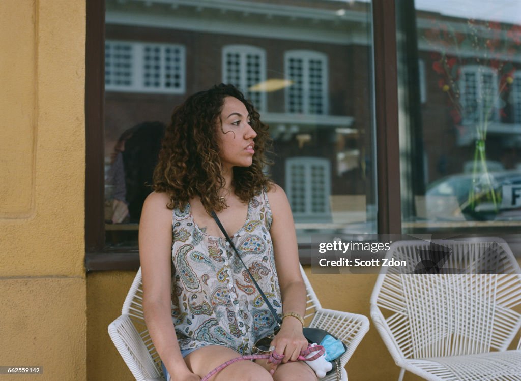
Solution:
[[[224,237],[203,232],[190,205],[173,210],[172,320],[181,349],[222,345],[252,353],[259,338],[277,326],[250,275]],[[231,237],[239,255],[277,314],[280,288],[269,234],[266,192],[253,197],[244,225]]]

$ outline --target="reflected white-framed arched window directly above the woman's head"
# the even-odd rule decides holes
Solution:
[[[266,52],[251,45],[222,48],[222,82],[239,88],[259,111],[267,111],[266,93],[252,87],[266,81]]]

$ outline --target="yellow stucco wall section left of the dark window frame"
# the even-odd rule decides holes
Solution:
[[[2,0],[0,52],[0,365],[86,379],[85,1]]]

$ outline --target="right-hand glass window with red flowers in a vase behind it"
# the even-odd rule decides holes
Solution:
[[[517,233],[521,2],[396,5],[403,231]]]

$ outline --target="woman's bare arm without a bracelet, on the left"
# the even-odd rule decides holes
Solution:
[[[139,224],[139,256],[143,276],[143,311],[154,346],[172,380],[200,380],[185,364],[170,307],[172,211],[168,196],[151,193],[143,204]]]

